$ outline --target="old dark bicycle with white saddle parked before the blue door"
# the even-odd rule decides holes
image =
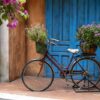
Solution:
[[[59,40],[50,39],[48,44],[55,45],[57,42],[59,42]],[[95,59],[95,55],[79,55],[79,49],[68,49],[68,51],[72,53],[72,56],[68,66],[64,69],[62,65],[49,54],[48,50],[42,58],[27,62],[22,70],[21,76],[25,87],[31,91],[44,91],[48,89],[54,81],[54,70],[50,63],[59,70],[61,78],[66,79],[67,76],[70,76],[73,87],[84,87],[87,89],[97,86],[100,81],[100,65]]]

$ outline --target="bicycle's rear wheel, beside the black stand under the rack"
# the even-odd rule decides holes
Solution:
[[[100,65],[90,57],[81,58],[71,69],[71,79],[76,87],[84,89],[97,86],[100,81]]]

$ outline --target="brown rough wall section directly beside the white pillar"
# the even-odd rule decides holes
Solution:
[[[24,23],[19,22],[15,30],[9,33],[9,79],[14,80],[21,75],[25,63],[25,31]]]

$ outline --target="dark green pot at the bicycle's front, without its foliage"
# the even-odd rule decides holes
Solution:
[[[36,51],[37,53],[45,54],[45,52],[47,51],[47,45],[36,42]]]

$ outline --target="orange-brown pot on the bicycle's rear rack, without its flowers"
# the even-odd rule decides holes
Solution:
[[[82,53],[95,54],[97,46],[96,45],[92,45],[90,47],[86,47],[86,43],[85,42],[81,42],[80,43],[80,48],[81,48]]]

